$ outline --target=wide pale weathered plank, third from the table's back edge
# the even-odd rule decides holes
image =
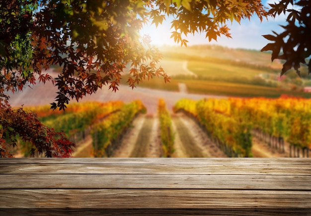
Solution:
[[[311,191],[311,176],[47,174],[0,175],[0,189],[234,189]]]

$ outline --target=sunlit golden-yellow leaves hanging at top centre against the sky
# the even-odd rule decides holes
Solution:
[[[209,41],[225,35],[231,38],[227,22],[250,19],[256,14],[260,20],[267,12],[260,0],[164,0],[154,1],[156,5],[150,11],[153,23],[161,24],[165,16],[172,16],[171,38],[186,46],[182,35],[204,33]]]

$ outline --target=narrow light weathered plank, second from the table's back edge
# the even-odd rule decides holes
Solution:
[[[311,175],[297,164],[0,164],[0,174],[218,174]]]

